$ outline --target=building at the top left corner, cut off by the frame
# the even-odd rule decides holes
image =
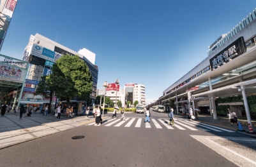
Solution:
[[[0,50],[18,0],[0,1]]]

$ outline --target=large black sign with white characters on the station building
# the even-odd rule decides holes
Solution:
[[[244,37],[239,37],[232,44],[227,46],[225,49],[220,51],[215,57],[210,59],[211,70],[215,70],[223,64],[239,57],[246,52],[245,39]]]

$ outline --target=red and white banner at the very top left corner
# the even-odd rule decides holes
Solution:
[[[15,10],[15,6],[17,4],[17,0],[8,0],[6,1],[4,10],[1,14],[1,18],[3,18],[4,20],[10,22],[11,21],[11,17],[13,15],[13,11]]]

